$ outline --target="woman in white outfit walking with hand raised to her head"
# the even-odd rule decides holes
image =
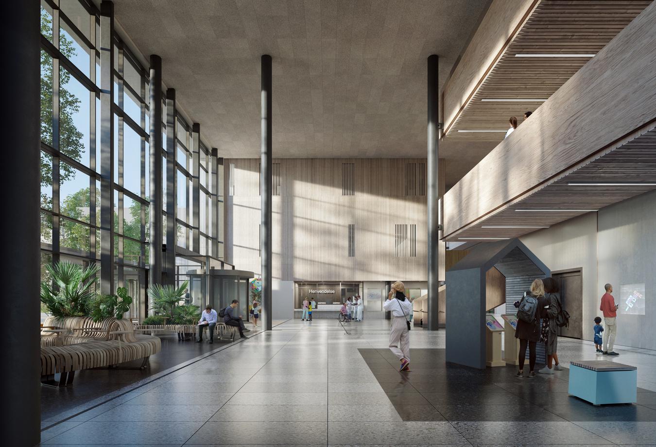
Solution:
[[[390,351],[394,352],[400,362],[399,371],[410,370],[410,331],[407,316],[412,303],[405,297],[405,286],[400,281],[392,284],[383,309],[392,312],[392,331],[390,331]]]

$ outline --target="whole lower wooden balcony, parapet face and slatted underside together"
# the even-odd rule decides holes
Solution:
[[[655,23],[652,3],[445,194],[446,240],[521,236],[537,228],[483,227],[549,226],[656,187]]]

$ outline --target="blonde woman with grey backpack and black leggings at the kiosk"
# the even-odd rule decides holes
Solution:
[[[535,349],[540,339],[541,303],[545,303],[544,284],[542,280],[535,280],[531,284],[531,291],[525,293],[522,301],[516,303],[517,329],[515,337],[520,339],[520,369],[517,377],[524,377],[524,362],[526,349],[529,349],[529,377],[535,377]]]

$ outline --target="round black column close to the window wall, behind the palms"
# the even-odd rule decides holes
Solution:
[[[162,60],[150,56],[150,284],[162,284]],[[152,303],[148,309],[153,309]]]

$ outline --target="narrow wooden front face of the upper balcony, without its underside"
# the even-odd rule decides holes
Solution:
[[[444,86],[443,123],[445,129],[476,91],[478,84],[497,62],[502,51],[518,32],[537,1],[494,0],[472,37],[462,58]]]

